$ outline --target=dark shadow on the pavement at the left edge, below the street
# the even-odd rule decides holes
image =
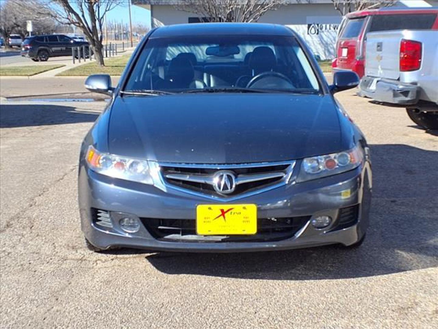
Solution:
[[[1,104],[0,128],[94,122],[98,116],[96,112],[63,105]]]

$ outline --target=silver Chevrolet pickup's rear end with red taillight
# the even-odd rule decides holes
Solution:
[[[438,129],[438,30],[367,34],[361,96],[406,107],[426,129]]]

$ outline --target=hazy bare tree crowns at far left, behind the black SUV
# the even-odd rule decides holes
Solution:
[[[50,17],[36,14],[37,8],[25,0],[7,0],[0,7],[0,32],[7,42],[11,34],[27,36],[26,22],[32,21],[33,33],[53,33],[57,29],[57,22]]]

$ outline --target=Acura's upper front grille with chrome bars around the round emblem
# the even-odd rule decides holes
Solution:
[[[294,162],[247,165],[178,165],[160,164],[161,174],[168,186],[214,197],[230,198],[257,190],[268,190],[285,184]],[[230,172],[235,177],[235,189],[221,193],[215,188],[215,175]]]

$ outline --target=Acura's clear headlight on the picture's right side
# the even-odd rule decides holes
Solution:
[[[348,172],[358,167],[363,160],[364,152],[359,146],[345,152],[307,157],[301,163],[297,182]]]

